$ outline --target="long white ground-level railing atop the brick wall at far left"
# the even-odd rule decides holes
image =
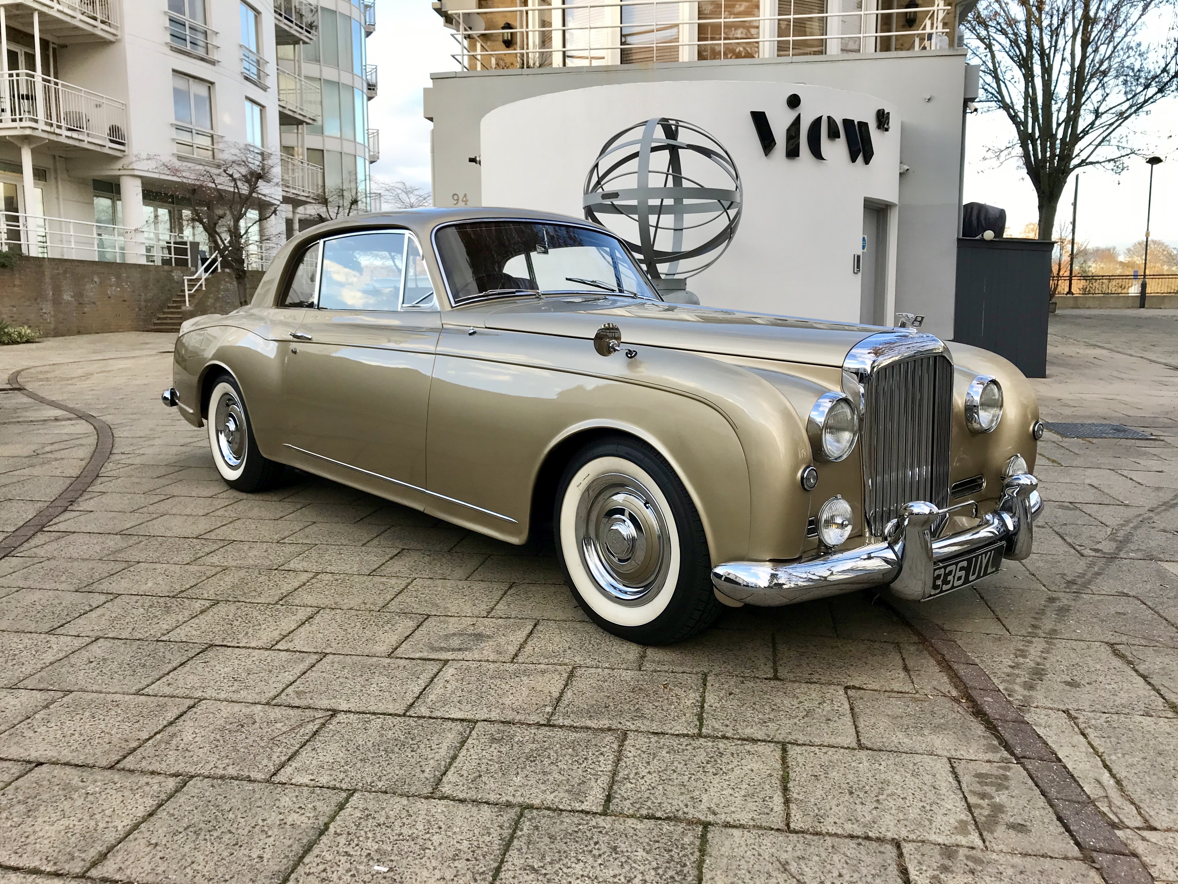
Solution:
[[[188,243],[177,233],[18,212],[0,212],[5,250],[33,258],[188,266]]]

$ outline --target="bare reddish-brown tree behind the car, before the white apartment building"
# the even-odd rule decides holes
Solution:
[[[251,145],[223,143],[212,159],[158,158],[155,190],[179,197],[185,216],[205,235],[224,270],[233,273],[241,304],[251,257],[272,245],[263,225],[278,213],[279,158]]]

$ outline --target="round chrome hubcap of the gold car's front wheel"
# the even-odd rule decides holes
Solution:
[[[650,492],[618,473],[598,476],[577,503],[581,559],[597,588],[621,605],[646,605],[670,568],[667,520]]]

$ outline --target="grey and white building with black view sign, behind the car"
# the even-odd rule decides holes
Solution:
[[[434,74],[424,97],[435,200],[582,215],[610,139],[683,120],[743,180],[728,250],[688,281],[702,303],[881,324],[913,312],[951,336],[977,97],[959,25],[973,5],[437,0],[457,71]],[[874,161],[848,123],[855,136],[868,127]]]

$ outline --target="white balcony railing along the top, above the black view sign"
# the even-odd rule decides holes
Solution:
[[[899,6],[899,0],[885,2]],[[953,7],[945,0],[892,9],[762,14],[782,6],[754,0],[540,0],[455,11],[448,22],[458,42],[454,58],[466,71],[941,50],[949,47],[954,28]]]

